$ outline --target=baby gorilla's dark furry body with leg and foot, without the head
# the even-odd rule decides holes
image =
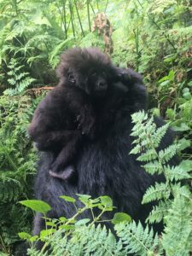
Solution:
[[[69,85],[59,85],[45,97],[28,130],[39,150],[57,154],[50,175],[61,179],[73,174],[73,166],[67,168],[67,165],[77,153],[82,134],[89,136],[95,121],[84,91]]]

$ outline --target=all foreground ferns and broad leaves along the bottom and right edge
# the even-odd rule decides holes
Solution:
[[[20,233],[22,239],[31,243],[32,247],[28,255],[45,256],[46,248],[51,247],[51,255],[119,255],[125,256],[129,253],[134,255],[189,255],[192,251],[192,225],[191,209],[192,194],[189,185],[181,184],[191,178],[189,165],[192,161],[183,160],[179,166],[169,166],[169,161],[177,154],[177,144],[168,146],[158,152],[158,146],[165,135],[168,125],[157,128],[153,118],[143,112],[134,113],[132,120],[135,126],[132,136],[136,137],[133,144],[135,147],[131,154],[138,154],[137,160],[144,163],[143,167],[150,174],[164,173],[165,183],[155,183],[154,187],[147,189],[143,196],[143,204],[150,201],[158,201],[148,216],[148,223],[165,223],[162,236],[154,234],[152,228],[143,228],[142,224],[131,221],[129,215],[117,212],[111,221],[119,240],[116,241],[111,231],[105,226],[95,225],[103,222],[101,216],[104,212],[113,211],[113,201],[108,196],[100,196],[91,199],[90,195],[79,195],[79,201],[83,207],[76,207],[76,200],[69,196],[61,196],[65,201],[73,203],[77,213],[72,218],[60,218],[60,220],[46,219],[46,212],[50,207],[43,201],[20,201],[26,207],[36,212],[41,212],[46,219],[46,230],[42,230],[40,236],[30,236]],[[142,152],[141,152],[142,148]],[[99,208],[100,212],[95,215],[93,209]],[[78,220],[79,215],[90,210],[92,220],[83,218]],[[84,234],[84,236],[82,236]],[[35,244],[44,241],[41,252],[37,252]]]

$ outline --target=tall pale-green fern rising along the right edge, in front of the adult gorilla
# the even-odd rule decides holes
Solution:
[[[148,222],[159,223],[163,219],[162,246],[166,255],[189,255],[192,249],[192,194],[184,181],[191,179],[192,161],[183,160],[179,166],[170,166],[169,161],[177,154],[179,145],[158,150],[168,125],[157,128],[153,117],[148,119],[144,112],[134,113],[132,120],[135,126],[131,135],[137,138],[131,154],[139,154],[137,160],[145,163],[146,172],[166,177],[166,183],[155,183],[143,196],[143,203],[159,201],[148,216]]]

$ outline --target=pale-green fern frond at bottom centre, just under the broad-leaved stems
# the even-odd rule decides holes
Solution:
[[[82,236],[83,234],[83,236]],[[117,255],[126,256],[121,241],[115,237],[105,226],[82,225],[73,230],[73,236],[68,238],[62,236],[63,230],[55,232],[54,236],[48,238],[50,241],[53,256],[67,255]],[[33,255],[33,254],[32,254]]]

